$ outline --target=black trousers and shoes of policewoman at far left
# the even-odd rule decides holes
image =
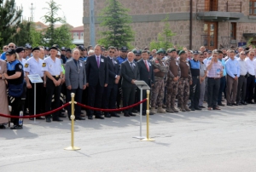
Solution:
[[[13,99],[15,100],[13,101]],[[22,111],[24,115],[25,99],[12,97],[9,99],[9,106],[12,106],[12,116],[20,116],[20,111]],[[19,118],[12,118],[11,121],[14,125],[19,125]]]

